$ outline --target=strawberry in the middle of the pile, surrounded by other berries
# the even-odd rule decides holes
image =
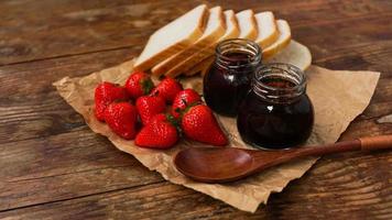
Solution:
[[[159,96],[142,96],[137,100],[137,109],[143,125],[146,125],[155,114],[165,111],[165,100]]]

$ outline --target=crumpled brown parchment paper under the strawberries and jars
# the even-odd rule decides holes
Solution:
[[[132,70],[133,61],[119,66],[92,73],[81,78],[65,77],[56,82],[59,95],[80,114],[94,132],[107,136],[113,145],[132,154],[151,170],[174,183],[220,199],[238,209],[254,212],[258,206],[266,200],[271,193],[279,193],[290,180],[300,178],[317,158],[302,160],[284,164],[264,173],[231,184],[202,184],[193,182],[179,174],[172,163],[172,156],[183,147],[197,147],[199,143],[182,140],[171,150],[157,151],[141,148],[133,141],[117,136],[102,122],[94,117],[94,89],[100,81],[107,80],[123,84]],[[308,78],[307,94],[315,108],[315,127],[307,144],[336,142],[358,114],[368,106],[374,91],[379,73],[328,70],[311,66],[306,72]],[[185,87],[202,91],[200,77],[182,80]],[[229,139],[230,146],[248,147],[240,139],[236,120],[218,117]]]

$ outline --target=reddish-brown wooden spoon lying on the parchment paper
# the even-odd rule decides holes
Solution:
[[[174,157],[176,168],[195,180],[227,183],[241,179],[288,161],[349,151],[392,148],[392,135],[361,138],[335,144],[280,151],[236,147],[190,147]]]

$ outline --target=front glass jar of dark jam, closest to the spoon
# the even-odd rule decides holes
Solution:
[[[304,73],[290,64],[260,66],[239,108],[242,140],[261,148],[292,147],[308,139],[313,123]]]

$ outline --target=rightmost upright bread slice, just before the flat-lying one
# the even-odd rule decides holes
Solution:
[[[262,50],[263,61],[271,58],[290,44],[292,34],[288,23],[285,20],[277,20],[276,25],[279,30],[279,37],[272,45],[265,50]]]

